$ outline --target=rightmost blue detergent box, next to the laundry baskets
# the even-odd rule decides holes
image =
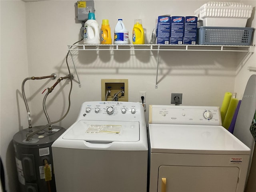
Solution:
[[[195,16],[186,16],[184,26],[184,44],[196,44],[197,20],[198,18]]]

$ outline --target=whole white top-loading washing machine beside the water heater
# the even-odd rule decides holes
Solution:
[[[84,102],[53,144],[57,192],[146,192],[144,108],[133,102]]]

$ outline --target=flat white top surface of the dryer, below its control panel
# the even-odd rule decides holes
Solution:
[[[151,152],[250,154],[250,148],[222,126],[149,124]]]

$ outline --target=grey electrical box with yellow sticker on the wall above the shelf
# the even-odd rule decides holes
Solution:
[[[88,20],[88,14],[94,13],[94,1],[78,1],[76,3],[77,15],[76,18],[78,21]]]

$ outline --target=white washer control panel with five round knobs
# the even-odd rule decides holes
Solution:
[[[134,102],[84,102],[78,120],[105,120],[106,118],[134,120],[134,117],[141,116],[142,112],[144,113],[142,104]]]

